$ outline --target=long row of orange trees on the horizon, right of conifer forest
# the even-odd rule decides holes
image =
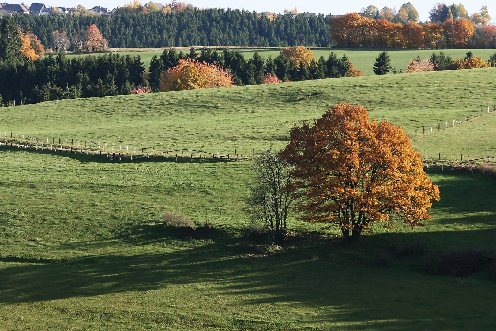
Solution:
[[[441,24],[409,22],[403,25],[352,12],[332,18],[330,26],[331,38],[339,47],[436,48],[444,37],[449,47],[464,48],[474,35],[474,24],[468,19],[448,19]]]

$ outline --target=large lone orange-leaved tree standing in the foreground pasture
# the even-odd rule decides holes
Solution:
[[[362,106],[340,103],[313,126],[295,126],[282,155],[295,165],[301,219],[337,226],[345,240],[373,222],[422,226],[439,199],[403,129],[370,121]]]

